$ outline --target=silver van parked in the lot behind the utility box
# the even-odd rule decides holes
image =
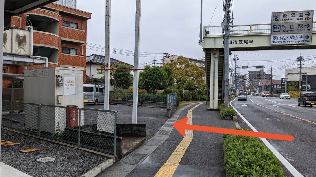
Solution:
[[[83,102],[85,103],[104,103],[104,85],[83,84]]]

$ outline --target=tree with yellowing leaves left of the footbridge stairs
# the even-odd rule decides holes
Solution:
[[[205,71],[195,64],[190,64],[189,60],[183,56],[171,63],[173,66],[173,77],[178,88],[195,90],[203,87]]]

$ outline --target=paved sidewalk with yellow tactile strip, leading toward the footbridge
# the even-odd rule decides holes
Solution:
[[[193,125],[235,128],[232,120],[220,119],[219,111],[206,111],[208,106],[205,103],[190,111],[196,105],[191,104],[180,113],[178,110],[153,139],[98,177],[225,176],[222,134],[193,131],[193,139],[190,139],[187,148],[181,152],[176,151],[179,149],[179,143],[182,143],[181,148],[183,142],[187,142],[172,126],[171,121],[177,117],[179,120],[192,113]],[[166,163],[167,161],[168,163]],[[170,168],[170,166],[174,168]]]

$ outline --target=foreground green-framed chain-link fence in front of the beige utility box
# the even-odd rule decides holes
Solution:
[[[116,154],[117,111],[2,101],[2,125]]]

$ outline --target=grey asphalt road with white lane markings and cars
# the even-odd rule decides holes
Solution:
[[[293,135],[294,141],[268,141],[303,176],[316,177],[316,106],[298,106],[297,99],[247,97],[232,101],[232,106],[260,132]],[[249,128],[246,123],[240,126]]]

